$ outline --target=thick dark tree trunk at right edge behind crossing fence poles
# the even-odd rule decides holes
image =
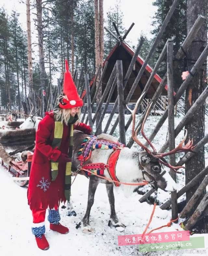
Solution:
[[[188,0],[187,1],[187,33],[190,31],[195,20],[198,18],[199,14],[206,16],[207,0]],[[188,48],[187,57],[188,57],[188,71],[192,68],[193,64],[196,62],[201,52],[203,51],[207,42],[207,29],[206,24],[203,24],[195,38],[193,38],[191,46]],[[194,75],[194,74],[193,74]],[[192,104],[197,100],[202,91],[205,88],[205,79],[206,79],[206,66],[203,65],[201,70],[197,75],[192,79],[192,82],[188,85],[186,90],[186,109],[187,113]],[[198,143],[204,137],[204,104],[196,111],[191,119],[191,122],[185,126],[188,130],[188,137],[193,138],[194,144]],[[186,143],[188,142],[188,138]],[[201,148],[198,154],[195,154],[187,163],[186,163],[186,184],[190,182],[201,169],[204,169],[204,147]],[[192,189],[186,192],[186,201],[188,202],[198,186],[201,184],[202,179],[199,183],[194,186]],[[205,195],[206,191],[204,190],[198,202],[193,206],[195,210],[200,203],[201,199]]]

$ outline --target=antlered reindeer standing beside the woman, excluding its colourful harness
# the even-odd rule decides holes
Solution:
[[[162,165],[165,165],[171,169],[173,169],[177,173],[177,169],[184,168],[182,166],[171,166],[169,163],[167,163],[164,160],[164,156],[175,154],[177,152],[186,152],[186,151],[192,151],[195,146],[193,146],[193,140],[189,140],[188,143],[183,147],[183,143],[186,140],[187,137],[187,131],[186,134],[181,141],[181,143],[172,151],[167,153],[157,153],[151,142],[148,140],[148,138],[145,136],[143,128],[144,123],[147,119],[147,116],[150,112],[150,106],[147,111],[147,114],[145,116],[145,119],[142,123],[141,133],[143,137],[149,142],[149,145],[152,147],[153,152],[151,152],[145,145],[141,143],[141,141],[137,138],[137,130],[135,130],[135,116],[136,116],[136,109],[138,107],[140,98],[138,99],[135,109],[130,112],[132,113],[133,117],[133,125],[132,125],[132,138],[134,141],[144,150],[144,151],[136,151],[133,149],[129,149],[127,147],[123,147],[121,149],[119,158],[117,160],[115,173],[116,177],[119,181],[125,182],[125,183],[137,183],[142,182],[143,180],[148,181],[151,186],[157,191],[158,188],[172,192],[176,190],[177,186],[175,181],[171,178],[170,174],[163,171]],[[85,139],[87,135],[83,134],[82,132],[75,131],[73,135],[73,156],[72,156],[72,170],[77,170],[79,173],[80,170],[80,161],[77,159],[77,152],[83,142],[83,139]],[[105,140],[111,140],[116,142],[117,139],[113,136],[107,135],[107,134],[101,134],[98,136],[100,139]],[[92,151],[91,157],[86,161],[85,164],[89,163],[108,163],[108,159],[110,154],[113,152],[113,150],[102,150],[102,149],[96,149]],[[110,178],[109,172],[107,169],[104,170],[104,177]],[[93,229],[90,227],[89,222],[89,216],[90,216],[90,210],[94,203],[94,196],[97,189],[97,186],[99,183],[106,184],[107,194],[109,198],[110,203],[110,221],[109,224],[114,227],[125,227],[122,222],[119,220],[118,216],[115,212],[115,205],[114,205],[114,194],[113,194],[113,187],[115,189],[118,189],[119,187],[114,186],[113,182],[109,180],[102,179],[100,177],[97,177],[95,175],[89,176],[89,188],[88,188],[88,202],[87,202],[87,209],[85,216],[82,220],[83,222],[83,231],[84,232],[92,232]],[[135,186],[133,185],[120,185],[120,189],[122,189],[126,195],[130,195],[135,189]],[[67,209],[70,209],[69,202],[67,203]]]

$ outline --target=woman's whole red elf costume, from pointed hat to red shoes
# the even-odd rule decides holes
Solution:
[[[58,110],[77,109],[83,106],[69,72],[67,60],[65,62],[63,95],[59,97]],[[77,114],[70,115],[66,124],[65,121],[58,119],[56,111],[46,112],[36,132],[27,197],[33,216],[32,233],[38,247],[43,250],[49,248],[44,235],[45,213],[48,207],[50,229],[62,234],[69,232],[67,227],[59,223],[59,203],[70,199],[73,129],[86,134],[92,131],[90,126],[84,123],[75,125],[78,119]]]

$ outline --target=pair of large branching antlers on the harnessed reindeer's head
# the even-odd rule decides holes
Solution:
[[[183,147],[183,143],[185,142],[186,138],[187,138],[187,130],[185,129],[186,133],[185,133],[185,136],[183,138],[183,140],[180,142],[180,144],[173,150],[169,151],[169,152],[166,152],[166,153],[157,153],[156,152],[156,149],[154,148],[154,146],[152,145],[152,143],[150,142],[150,140],[147,138],[147,136],[144,134],[144,124],[145,124],[145,121],[147,120],[147,117],[149,116],[149,113],[150,113],[150,110],[151,110],[151,105],[152,103],[149,104],[148,106],[148,109],[147,109],[147,112],[145,114],[145,117],[144,117],[144,120],[142,122],[142,125],[140,125],[136,130],[135,130],[135,117],[136,117],[136,110],[138,108],[138,105],[140,104],[141,102],[141,99],[143,97],[143,95],[145,94],[145,92],[142,93],[142,95],[139,97],[139,99],[137,100],[136,102],[136,105],[135,105],[135,108],[133,110],[131,110],[128,106],[127,109],[132,113],[132,120],[133,120],[133,124],[132,124],[132,138],[133,140],[142,148],[144,149],[147,153],[149,153],[150,155],[152,155],[153,157],[156,157],[158,159],[158,161],[173,169],[175,172],[177,173],[181,173],[179,171],[176,171],[177,169],[180,169],[180,168],[184,168],[183,166],[172,166],[170,165],[168,162],[165,161],[165,159],[163,158],[164,156],[167,156],[167,155],[171,155],[171,154],[175,154],[175,153],[179,153],[179,152],[187,152],[187,151],[193,151],[193,149],[196,147],[196,146],[193,146],[193,139],[189,139],[188,140],[188,143]],[[141,127],[141,134],[142,136],[147,140],[148,144],[151,146],[151,148],[153,149],[153,152],[151,152],[137,137],[137,131],[138,129]],[[160,159],[162,158],[162,160]]]

